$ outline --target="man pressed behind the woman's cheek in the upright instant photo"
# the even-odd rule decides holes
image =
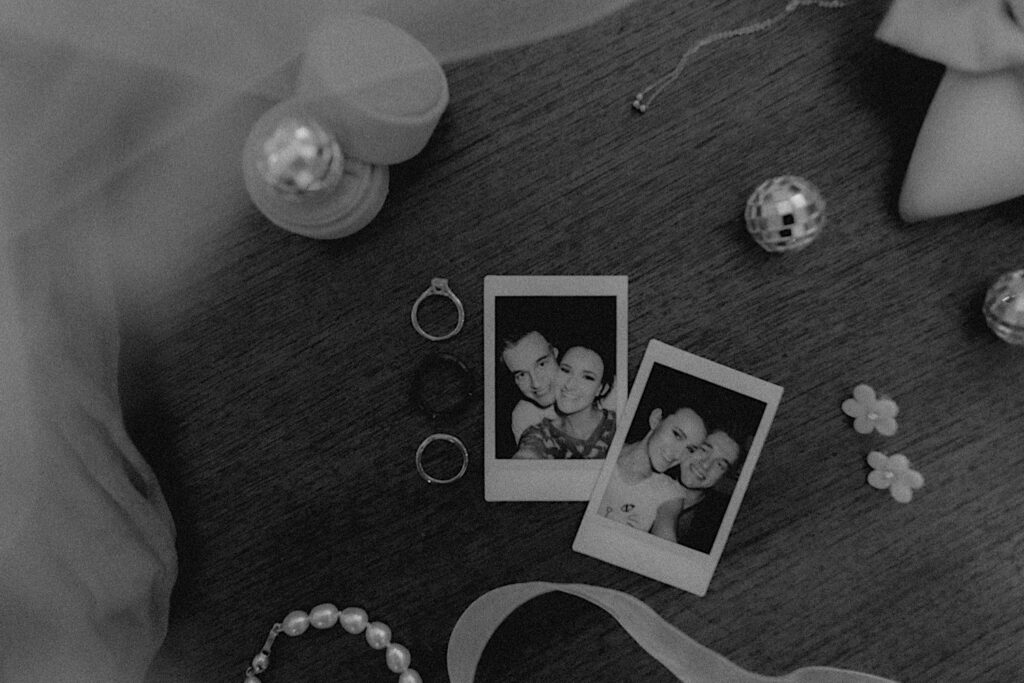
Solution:
[[[502,361],[523,397],[512,409],[512,437],[544,418],[555,417],[558,349],[536,329],[520,329],[501,340]]]

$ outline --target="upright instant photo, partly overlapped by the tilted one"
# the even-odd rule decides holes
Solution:
[[[484,278],[484,500],[590,499],[626,408],[628,288]]]

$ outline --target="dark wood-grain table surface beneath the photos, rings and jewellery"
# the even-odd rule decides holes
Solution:
[[[366,229],[316,242],[248,206],[217,224],[215,258],[134,350],[148,393],[126,398],[178,531],[155,680],[242,680],[274,621],[331,601],[390,625],[424,680],[443,681],[462,611],[524,581],[630,593],[762,674],[1021,680],[1024,349],[980,310],[1024,265],[1024,205],[900,221],[941,68],[873,40],[884,3],[805,8],[709,48],[646,115],[630,108],[695,40],[779,5],[639,0],[446,65],[449,110],[392,167]],[[246,106],[225,124],[240,137],[260,113]],[[742,209],[781,174],[817,184],[829,222],[804,252],[772,256]],[[492,273],[628,275],[631,378],[657,338],[784,387],[706,597],[573,553],[584,503],[484,502],[482,401],[450,425],[466,476],[418,476],[432,425],[409,402],[412,371],[445,351],[482,376]],[[466,306],[439,343],[409,322],[435,276]],[[895,436],[860,435],[842,414],[861,382],[899,403]],[[925,475],[909,505],[865,483],[872,449]],[[272,661],[266,683],[395,678],[326,634],[279,641]],[[603,611],[552,595],[506,622],[478,680],[673,677]]]

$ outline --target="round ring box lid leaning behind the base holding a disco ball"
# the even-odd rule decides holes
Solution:
[[[346,155],[371,164],[419,154],[449,102],[444,72],[422,43],[383,19],[342,12],[310,35],[296,94]]]

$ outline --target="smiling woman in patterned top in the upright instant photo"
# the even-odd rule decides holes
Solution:
[[[614,383],[614,364],[598,345],[569,346],[555,377],[555,416],[528,427],[513,456],[534,460],[604,458],[615,434],[615,412],[601,407]]]

